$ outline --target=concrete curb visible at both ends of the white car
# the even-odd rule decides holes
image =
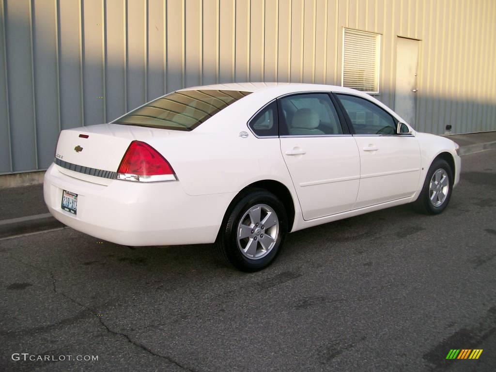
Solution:
[[[469,155],[492,149],[496,149],[496,141],[460,146],[458,152],[460,155]],[[64,225],[57,221],[50,213],[12,218],[0,221],[0,239],[62,227]]]

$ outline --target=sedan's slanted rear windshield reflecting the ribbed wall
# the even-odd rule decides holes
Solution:
[[[251,92],[237,90],[184,90],[163,96],[131,111],[114,124],[193,130]]]

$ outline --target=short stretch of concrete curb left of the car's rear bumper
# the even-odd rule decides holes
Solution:
[[[62,227],[64,225],[57,221],[50,213],[11,218],[0,221],[0,239]]]

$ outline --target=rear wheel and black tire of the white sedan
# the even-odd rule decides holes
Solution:
[[[282,202],[265,189],[252,188],[226,213],[215,248],[224,262],[241,271],[257,271],[277,257],[287,233]]]

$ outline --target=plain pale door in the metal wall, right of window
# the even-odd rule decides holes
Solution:
[[[417,109],[418,58],[419,41],[398,37],[394,111],[412,126],[415,126],[415,112]]]

